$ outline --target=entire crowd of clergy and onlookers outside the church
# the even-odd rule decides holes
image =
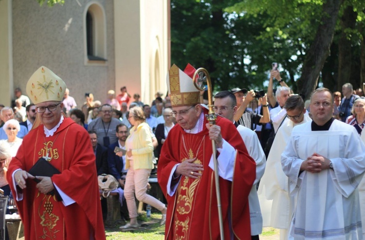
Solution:
[[[126,199],[121,217],[129,222],[121,229],[139,227],[137,199],[161,211],[165,239],[219,239],[219,224],[226,239],[257,240],[263,226],[280,229],[280,239],[365,237],[361,89],[353,91],[346,83],[342,98],[341,92],[319,88],[305,102],[273,69],[266,93],[241,87],[217,92],[216,125],[211,126],[204,91],[193,85],[194,71],[191,65],[184,71],[171,67],[168,94],[157,92],[151,104],[141,102],[138,93],[132,97],[124,86],[119,95],[108,91],[105,101],[86,93],[78,107],[62,79],[45,67],[29,81],[35,75],[62,81],[63,97],[45,98],[28,83],[29,99],[17,88],[12,106],[0,105],[0,188],[7,195],[12,189],[25,234],[66,236],[85,223],[83,234],[105,239],[100,221],[106,219],[107,204],[95,189],[96,176],[110,174]],[[220,223],[212,141],[219,165]],[[72,151],[63,151],[66,145]],[[39,158],[60,173],[30,174]],[[156,170],[167,206],[147,194]],[[70,180],[79,182],[66,186]],[[92,213],[74,190],[85,188],[86,180],[95,180],[85,189],[95,194],[85,203]],[[57,217],[55,229],[42,225],[44,214],[37,212],[31,221],[36,208],[30,202],[53,206],[44,214]],[[72,212],[79,218],[70,220]],[[58,219],[70,222],[60,226]]]

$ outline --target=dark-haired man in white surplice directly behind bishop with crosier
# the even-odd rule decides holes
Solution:
[[[235,122],[234,115],[237,114],[238,109],[235,94],[229,91],[222,91],[218,92],[214,97],[214,111],[235,124],[239,135],[241,135],[242,140],[245,143],[248,154],[250,154],[256,162],[256,179],[250,194],[248,195],[248,202],[250,205],[251,240],[258,240],[258,235],[262,232],[262,215],[260,204],[258,203],[256,186],[265,171],[265,153],[264,150],[262,150],[256,132]],[[262,98],[262,104],[267,104],[266,95]]]

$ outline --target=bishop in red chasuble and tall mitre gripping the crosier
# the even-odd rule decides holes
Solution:
[[[172,116],[159,158],[157,177],[167,199],[165,239],[219,239],[219,217],[212,161],[217,146],[219,185],[225,239],[251,239],[248,195],[256,164],[235,125],[218,116],[209,126],[193,85],[195,69],[173,65],[167,76]]]

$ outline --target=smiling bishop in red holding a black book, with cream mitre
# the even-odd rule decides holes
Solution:
[[[88,132],[63,115],[65,90],[62,79],[43,66],[29,79],[27,94],[36,105],[37,118],[9,165],[7,181],[25,239],[103,240],[95,155]],[[59,173],[29,173],[36,163],[46,161],[47,169]]]

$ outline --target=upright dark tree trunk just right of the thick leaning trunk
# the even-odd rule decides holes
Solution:
[[[353,11],[352,6],[348,6],[343,16],[340,18],[342,33],[338,42],[338,79],[337,89],[342,89],[342,85],[350,82],[352,50],[351,40],[348,39],[346,30],[354,29],[357,14]]]

